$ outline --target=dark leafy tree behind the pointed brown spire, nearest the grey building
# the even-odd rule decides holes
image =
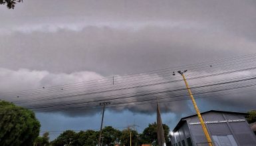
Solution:
[[[168,143],[169,142],[168,133],[170,131],[170,128],[166,124],[163,124],[163,128],[164,128],[164,137],[166,139],[166,143]],[[146,127],[144,129],[144,131],[141,135],[142,143],[153,143],[154,141],[156,141],[156,143],[158,142],[158,133],[157,133],[156,122],[148,124],[148,127]]]

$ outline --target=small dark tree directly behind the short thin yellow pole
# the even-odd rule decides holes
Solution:
[[[120,137],[121,145],[130,145],[130,132],[132,132],[132,145],[138,145],[138,132],[132,129],[124,129]]]

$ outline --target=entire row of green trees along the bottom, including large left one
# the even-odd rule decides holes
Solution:
[[[63,146],[63,145],[96,145],[99,131],[86,130],[76,133],[66,130],[53,141],[49,141],[49,132],[39,136],[40,122],[35,113],[10,102],[0,100],[0,145],[1,146]],[[168,125],[163,124],[166,142]],[[111,126],[102,129],[103,145],[130,145],[130,133],[132,133],[132,145],[142,143],[157,143],[156,123],[150,123],[142,133],[134,129],[120,131]]]

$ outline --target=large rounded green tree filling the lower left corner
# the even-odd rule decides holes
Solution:
[[[1,146],[33,145],[40,126],[33,111],[0,100]]]

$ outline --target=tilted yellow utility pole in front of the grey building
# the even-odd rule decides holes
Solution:
[[[186,80],[186,78],[185,78],[184,73],[187,72],[187,71],[188,71],[188,70],[184,70],[184,72],[178,71],[178,73],[179,73],[180,75],[182,75],[182,78],[183,78],[183,80],[184,80],[184,82],[185,82],[185,84],[186,84],[186,88],[187,88],[187,90],[188,90],[188,94],[190,94],[190,98],[191,98],[191,100],[192,100],[193,107],[195,108],[195,111],[196,111],[196,113],[197,113],[197,117],[198,117],[198,119],[199,119],[199,121],[200,121],[200,123],[201,123],[201,127],[203,128],[203,133],[205,134],[205,137],[206,137],[206,139],[207,139],[207,143],[208,143],[209,146],[213,146],[212,141],[211,141],[211,137],[209,136],[209,133],[208,133],[208,131],[207,131],[207,129],[206,129],[206,126],[205,126],[205,123],[204,123],[204,121],[203,121],[203,118],[201,117],[201,113],[200,113],[200,111],[199,111],[199,109],[198,109],[198,107],[197,107],[197,104],[195,103],[195,100],[194,100],[194,98],[193,98],[193,94],[192,94],[192,92],[191,92],[191,90],[190,90],[190,86],[188,86],[188,82],[187,82],[187,80]],[[174,73],[173,75],[175,75],[175,73]]]

